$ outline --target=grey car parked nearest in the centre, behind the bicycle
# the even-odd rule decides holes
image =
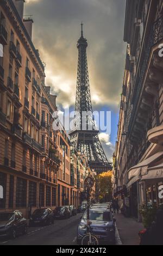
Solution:
[[[99,244],[115,244],[115,218],[109,209],[91,208],[90,222],[92,233],[97,236]],[[86,234],[87,213],[85,211],[77,230],[77,243],[81,245]]]

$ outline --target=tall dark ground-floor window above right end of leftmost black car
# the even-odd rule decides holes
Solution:
[[[27,206],[27,180],[17,177],[16,182],[16,207]]]

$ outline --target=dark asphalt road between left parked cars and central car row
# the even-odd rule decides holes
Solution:
[[[77,225],[82,214],[67,220],[55,220],[45,227],[30,227],[27,235],[15,240],[0,240],[0,245],[76,245]]]

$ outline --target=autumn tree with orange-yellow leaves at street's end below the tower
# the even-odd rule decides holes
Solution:
[[[96,194],[101,202],[108,202],[112,197],[112,171],[103,172],[96,176]]]

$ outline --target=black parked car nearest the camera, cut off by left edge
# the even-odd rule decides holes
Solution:
[[[27,220],[22,212],[1,212],[0,213],[0,237],[11,237],[27,233]]]

